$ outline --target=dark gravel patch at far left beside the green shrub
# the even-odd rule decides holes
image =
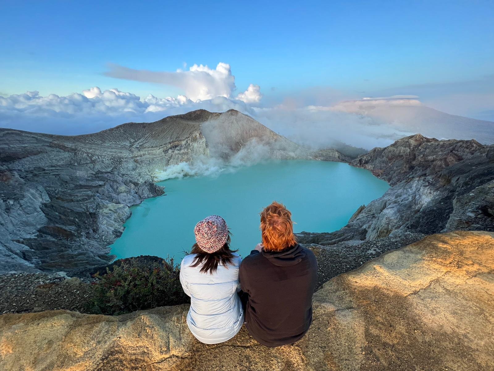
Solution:
[[[56,309],[84,312],[92,294],[90,283],[44,273],[0,276],[0,314]]]

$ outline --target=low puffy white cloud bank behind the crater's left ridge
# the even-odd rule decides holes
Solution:
[[[216,96],[192,101],[185,95],[141,98],[118,89],[98,87],[67,96],[39,92],[0,96],[0,127],[76,135],[107,129],[124,122],[150,122],[195,109],[224,112],[229,109],[252,114],[250,105],[238,99]]]

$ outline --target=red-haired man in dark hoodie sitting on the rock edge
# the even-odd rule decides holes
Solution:
[[[297,243],[291,213],[278,202],[261,213],[261,235],[239,271],[245,322],[259,343],[277,347],[299,340],[312,323],[317,262]]]

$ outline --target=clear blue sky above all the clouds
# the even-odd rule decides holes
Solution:
[[[494,73],[493,18],[492,1],[6,1],[0,92],[180,93],[103,76],[108,63],[226,62],[239,90],[267,95],[474,81]]]

